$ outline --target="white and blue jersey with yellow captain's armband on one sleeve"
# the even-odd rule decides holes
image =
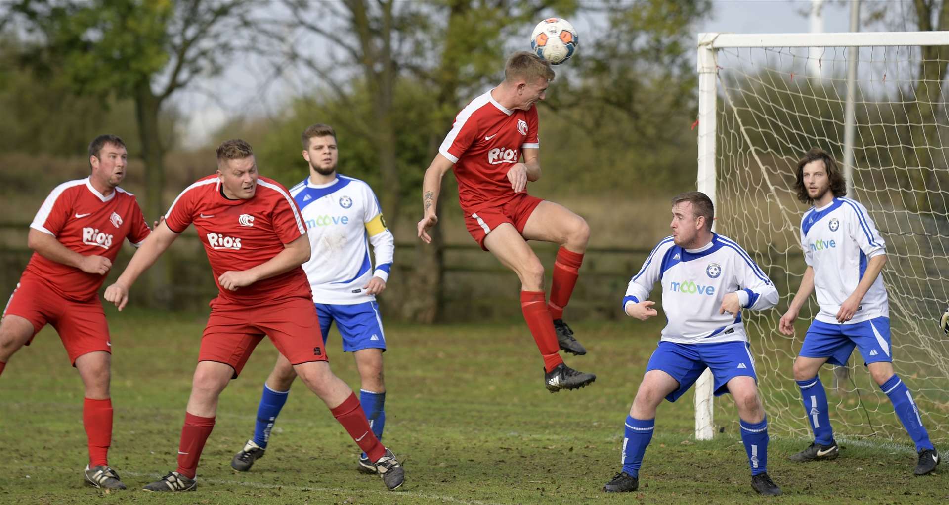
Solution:
[[[363,286],[373,277],[389,279],[395,239],[369,185],[345,175],[315,185],[307,177],[290,188],[290,195],[307,223],[312,256],[303,269],[313,301],[347,305],[376,299]],[[375,270],[369,243],[376,256]]]

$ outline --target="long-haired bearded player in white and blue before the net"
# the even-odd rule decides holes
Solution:
[[[913,395],[893,370],[889,301],[880,275],[886,244],[866,208],[845,197],[847,179],[826,151],[813,148],[797,162],[794,188],[798,200],[813,205],[801,218],[808,267],[781,317],[781,332],[794,334],[794,321],[812,291],[817,292],[821,310],[804,336],[793,369],[814,442],[791,460],[832,460],[840,454],[830,426],[827,391],[817,371],[825,363],[846,366],[856,348],[916,446],[919,459],[913,472],[932,473],[940,463],[939,452],[922,425]]]

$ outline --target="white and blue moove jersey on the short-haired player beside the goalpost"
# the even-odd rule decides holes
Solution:
[[[740,313],[718,314],[722,298],[737,293],[741,306],[753,311],[771,308],[778,299],[774,284],[752,257],[716,233],[694,250],[679,247],[671,236],[662,239],[629,281],[623,309],[649,298],[657,280],[668,321],[661,340],[679,344],[748,341]]]

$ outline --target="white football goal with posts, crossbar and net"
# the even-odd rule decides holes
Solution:
[[[799,229],[809,206],[795,197],[796,162],[820,147],[847,171],[848,196],[884,238],[893,365],[931,439],[944,444],[949,337],[937,323],[949,300],[949,32],[702,34],[699,42],[699,189],[715,194],[716,231],[742,244],[781,293],[774,309],[742,315],[771,433],[812,436],[791,366],[817,314],[814,297],[793,336],[778,320],[806,267]],[[820,377],[837,435],[912,444],[860,352]],[[706,401],[697,396],[699,410]],[[731,398],[714,404],[714,421],[697,411],[698,438],[738,431]]]

